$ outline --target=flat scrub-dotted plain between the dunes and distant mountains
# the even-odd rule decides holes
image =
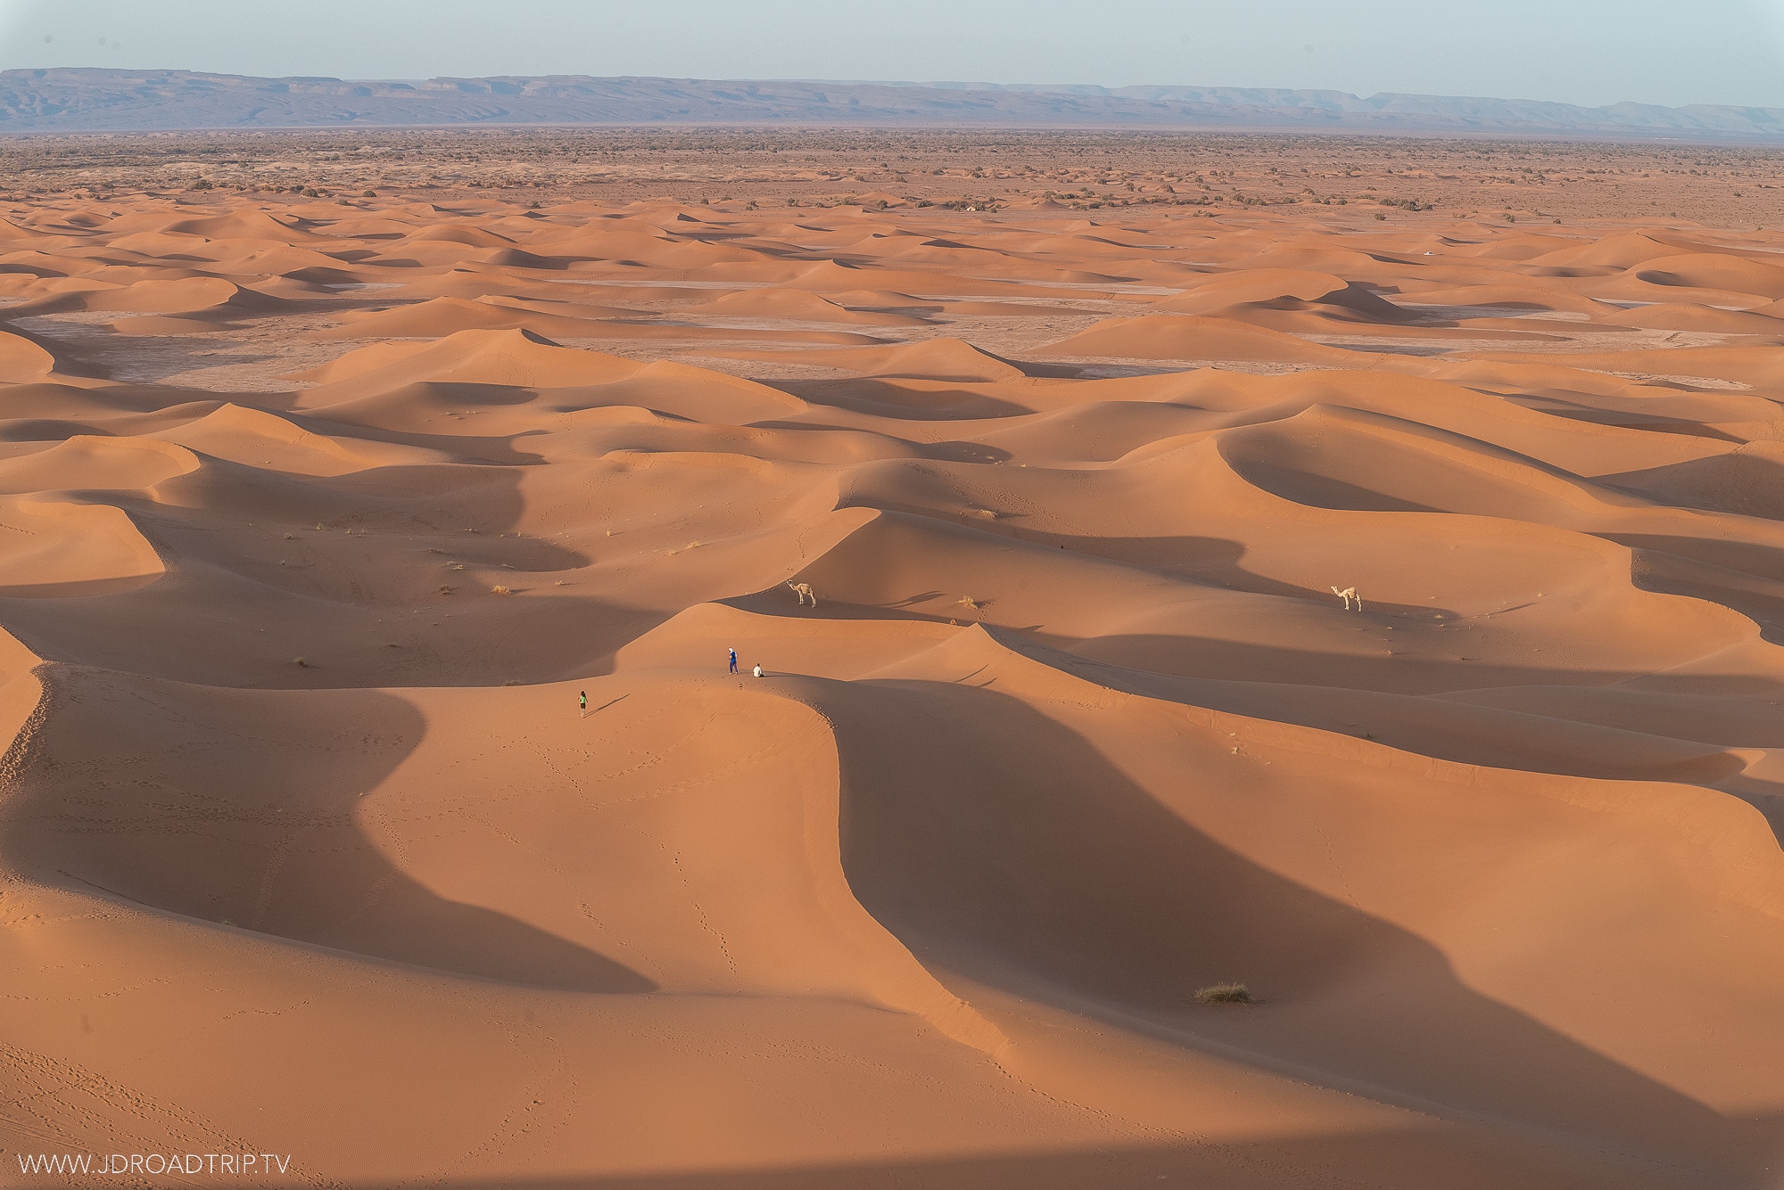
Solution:
[[[710,205],[712,189],[747,178],[744,192],[719,201],[756,208],[849,201],[878,208],[887,201],[956,210],[997,210],[1033,200],[1074,210],[1163,203],[1202,208],[1197,214],[1204,217],[1217,210],[1367,201],[1495,216],[1525,208],[1525,219],[1545,223],[1554,210],[1648,216],[1689,207],[1711,223],[1745,223],[1768,210],[1761,191],[1772,189],[1745,180],[1764,176],[1761,171],[1773,160],[1766,148],[1700,144],[1598,144],[1582,157],[1579,146],[1561,143],[1415,144],[1156,130],[318,128],[277,137],[253,130],[43,135],[11,144],[7,166],[4,189],[12,201],[169,191],[348,201],[526,187],[521,203],[537,210],[583,194],[624,203],[660,196],[667,187],[681,201]],[[376,173],[368,176],[368,167]],[[1384,198],[1415,185],[1420,198]],[[1536,203],[1502,207],[1509,187],[1543,187],[1543,212],[1534,212]],[[874,191],[887,200],[862,198]],[[892,192],[901,201],[892,201]],[[548,198],[541,203],[535,194]]]

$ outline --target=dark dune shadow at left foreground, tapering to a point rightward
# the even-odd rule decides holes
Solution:
[[[426,732],[401,698],[37,673],[50,713],[12,746],[25,771],[0,816],[0,855],[27,878],[455,974],[655,990],[607,955],[442,896],[389,859],[392,844],[368,828],[382,811],[360,798]]]

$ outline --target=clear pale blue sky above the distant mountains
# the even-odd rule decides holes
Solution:
[[[0,0],[0,69],[27,66],[1784,107],[1784,0]]]

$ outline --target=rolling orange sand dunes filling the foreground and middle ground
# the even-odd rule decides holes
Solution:
[[[0,1179],[1784,1185],[1784,235],[888,194],[5,205]]]

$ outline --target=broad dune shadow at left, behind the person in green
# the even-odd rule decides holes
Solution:
[[[605,673],[610,654],[667,613],[580,593],[566,572],[591,556],[528,524],[521,474],[419,463],[318,477],[207,456],[200,472],[164,485],[164,499],[91,493],[125,509],[166,574],[4,588],[0,624],[54,661],[205,686],[500,686]],[[569,583],[555,591],[560,574]],[[496,584],[555,593],[491,599]],[[232,613],[196,648],[178,632],[194,607]],[[426,615],[439,611],[455,620]],[[466,624],[498,631],[500,645],[451,631]]]

